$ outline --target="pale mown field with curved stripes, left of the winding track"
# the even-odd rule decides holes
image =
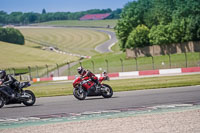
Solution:
[[[94,48],[109,39],[102,32],[76,28],[20,28],[26,39],[80,55],[95,55]]]

